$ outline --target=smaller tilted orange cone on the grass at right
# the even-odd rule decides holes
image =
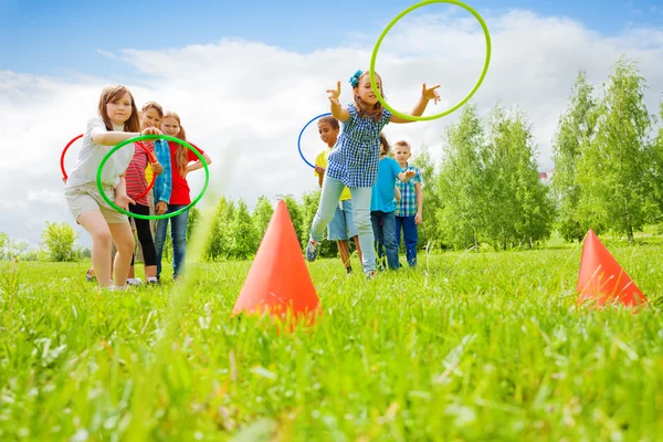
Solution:
[[[577,292],[578,304],[596,301],[603,306],[620,302],[633,307],[646,303],[646,297],[592,230],[587,232],[582,243]]]

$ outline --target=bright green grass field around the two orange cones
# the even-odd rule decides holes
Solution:
[[[230,318],[248,262],[104,296],[86,262],[4,262],[0,440],[661,440],[663,245],[608,245],[646,311],[578,311],[577,245],[320,260],[293,334]]]

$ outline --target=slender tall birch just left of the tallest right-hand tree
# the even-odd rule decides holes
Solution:
[[[577,175],[582,151],[596,135],[596,103],[592,93],[585,72],[580,72],[571,92],[569,108],[560,117],[552,140],[552,191],[558,207],[557,223],[559,233],[567,241],[581,242],[589,229],[587,222],[580,222],[578,204],[581,188]]]

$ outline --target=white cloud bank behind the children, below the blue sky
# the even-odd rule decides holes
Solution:
[[[625,54],[639,62],[650,88],[645,103],[659,108],[663,91],[663,30],[632,28],[604,36],[579,22],[538,17],[527,11],[485,17],[492,33],[488,75],[473,97],[486,116],[497,102],[517,105],[529,117],[539,149],[541,170],[552,167],[550,139],[580,70],[598,86],[610,66]],[[190,139],[208,151],[210,191],[244,198],[250,206],[260,194],[301,194],[315,188],[312,170],[297,152],[297,136],[312,117],[329,110],[325,91],[341,82],[349,102],[348,78],[369,67],[376,35],[354,35],[347,48],[295,53],[265,43],[222,40],[161,51],[124,50],[99,53],[129,64],[140,74],[128,84],[138,104],[157,101],[182,118]],[[472,88],[484,61],[484,38],[466,15],[419,15],[403,19],[383,40],[376,69],[391,106],[410,110],[421,83],[441,84],[443,103],[424,115],[441,112]],[[122,66],[125,67],[125,66]],[[78,73],[75,80],[0,72],[2,161],[0,230],[15,239],[39,241],[45,221],[74,221],[62,197],[60,155],[95,114],[109,78]],[[389,139],[431,146],[439,152],[444,128],[457,113],[427,123],[388,125]],[[303,150],[313,161],[323,147],[312,124]],[[77,146],[66,157],[75,162]],[[192,192],[203,173],[192,178]],[[81,242],[88,244],[82,232]]]

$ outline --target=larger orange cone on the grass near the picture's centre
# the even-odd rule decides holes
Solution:
[[[231,315],[265,311],[287,322],[304,318],[306,325],[319,313],[319,299],[283,200],[270,220]]]

